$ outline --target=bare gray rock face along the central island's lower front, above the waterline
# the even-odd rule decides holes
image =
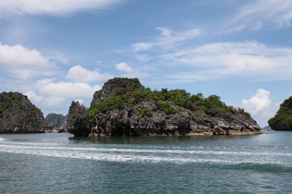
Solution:
[[[141,103],[142,104],[142,103]],[[182,109],[174,115],[157,112],[154,104],[144,102],[153,108],[152,117],[140,117],[134,107],[114,109],[99,113],[95,117],[96,126],[89,136],[157,136],[157,135],[231,135],[261,134],[255,120],[238,113],[216,112],[213,116],[202,112]]]

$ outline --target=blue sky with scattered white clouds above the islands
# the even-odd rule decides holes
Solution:
[[[291,0],[0,0],[0,92],[68,114],[114,77],[219,95],[261,126],[292,96]]]

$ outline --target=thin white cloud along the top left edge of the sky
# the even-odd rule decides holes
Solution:
[[[65,15],[72,12],[105,9],[120,0],[0,0],[1,16],[7,14]]]

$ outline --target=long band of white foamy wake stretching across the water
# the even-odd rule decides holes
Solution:
[[[278,159],[278,156],[290,156],[290,153],[257,153],[257,152],[228,152],[228,151],[182,151],[182,150],[147,150],[119,149],[94,147],[59,147],[59,146],[24,146],[0,144],[1,152],[34,154],[41,156],[66,157],[77,159],[106,160],[110,162],[171,162],[185,163],[214,163],[214,164],[277,164],[291,166],[289,159]],[[219,154],[218,154],[219,152]],[[202,155],[203,154],[203,155]],[[226,157],[226,155],[228,157]],[[239,157],[238,155],[241,155]],[[270,156],[268,158],[259,155]]]

